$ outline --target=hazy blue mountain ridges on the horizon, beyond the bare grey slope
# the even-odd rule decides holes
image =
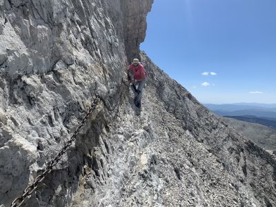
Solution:
[[[204,104],[215,114],[222,117],[262,124],[276,128],[276,104],[266,103],[233,103],[233,104]]]

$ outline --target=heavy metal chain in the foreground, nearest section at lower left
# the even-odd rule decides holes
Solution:
[[[92,102],[91,106],[88,108],[85,117],[83,117],[83,119],[81,120],[81,124],[79,124],[79,126],[77,127],[77,129],[75,130],[75,132],[70,137],[70,140],[66,142],[66,145],[63,146],[63,148],[59,151],[59,153],[57,154],[57,156],[46,164],[46,167],[42,169],[42,171],[43,171],[42,174],[38,175],[34,179],[34,181],[32,182],[32,184],[30,184],[23,191],[23,195],[21,197],[17,197],[16,199],[14,199],[14,201],[12,201],[11,207],[20,207],[20,206],[22,206],[22,204],[25,201],[27,201],[28,199],[30,199],[30,197],[32,196],[32,193],[34,192],[34,190],[37,189],[38,184],[40,184],[41,181],[43,181],[43,179],[46,177],[46,175],[48,175],[50,172],[52,172],[52,168],[57,165],[57,163],[61,159],[62,155],[72,145],[72,142],[74,142],[77,139],[77,135],[78,135],[79,131],[81,130],[81,128],[83,127],[83,125],[86,123],[86,121],[87,121],[88,117],[90,116],[92,110],[94,110],[96,108],[97,104],[99,103],[99,100],[100,100],[99,99],[99,95],[95,95],[94,101]]]

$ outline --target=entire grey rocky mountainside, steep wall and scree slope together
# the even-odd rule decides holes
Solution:
[[[0,204],[9,206],[102,100],[26,206],[275,206],[276,162],[144,52],[141,115],[122,85],[146,0],[0,0]]]

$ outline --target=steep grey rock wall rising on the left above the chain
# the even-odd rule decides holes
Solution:
[[[57,154],[96,92],[116,95],[132,57],[128,52],[139,53],[151,3],[0,1],[1,203],[10,204]],[[135,32],[127,29],[137,19]],[[126,45],[138,33],[139,40]],[[68,156],[63,159],[66,163]],[[79,155],[76,163],[82,159]],[[68,164],[58,169],[68,169]]]

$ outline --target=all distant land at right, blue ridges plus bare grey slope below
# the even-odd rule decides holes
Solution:
[[[276,104],[204,104],[235,130],[267,150],[276,150]]]

